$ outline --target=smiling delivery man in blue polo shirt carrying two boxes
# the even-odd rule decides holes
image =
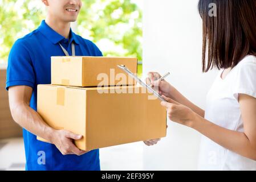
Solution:
[[[79,150],[74,140],[81,135],[52,129],[36,112],[36,86],[51,83],[51,56],[102,56],[94,43],[70,28],[82,7],[80,0],[42,2],[46,20],[14,43],[7,67],[6,89],[14,121],[23,127],[26,170],[100,170],[99,150]],[[50,143],[36,140],[36,135]]]

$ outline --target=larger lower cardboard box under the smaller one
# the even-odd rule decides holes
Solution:
[[[149,98],[140,86],[38,85],[37,109],[51,127],[83,135],[78,148],[93,150],[165,137],[166,110]]]

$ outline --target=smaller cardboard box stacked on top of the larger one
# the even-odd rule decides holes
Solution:
[[[117,68],[123,64],[137,73],[135,57],[51,57],[51,84],[66,86],[135,85],[135,81]]]

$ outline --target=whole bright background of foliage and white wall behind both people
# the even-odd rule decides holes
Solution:
[[[202,108],[216,71],[202,74],[202,22],[198,0],[83,0],[73,30],[96,43],[104,56],[138,57],[138,74],[167,78]],[[14,41],[39,26],[46,9],[40,0],[0,0],[0,170],[24,170],[21,129],[11,119],[5,74]],[[143,109],[143,108],[141,108]],[[101,169],[196,170],[200,134],[168,121],[167,137],[100,150]]]

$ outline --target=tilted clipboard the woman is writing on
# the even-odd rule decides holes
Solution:
[[[129,71],[129,69],[127,67],[125,67],[125,65],[117,65],[117,67],[119,67],[120,69],[122,69],[125,73],[127,73],[129,76],[131,76],[133,79],[135,79],[141,86],[144,86],[145,88],[147,88],[149,90],[149,92],[153,93],[154,96],[156,96],[160,101],[165,101],[164,98],[162,98],[159,93],[157,93],[154,89],[151,88],[151,86],[147,85],[145,82],[143,82],[142,80],[140,80],[139,77],[137,77],[135,74],[133,74],[131,71]]]

